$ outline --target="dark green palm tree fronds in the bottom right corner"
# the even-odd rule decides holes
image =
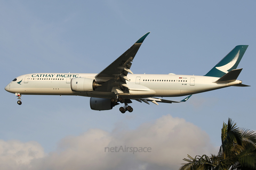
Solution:
[[[218,155],[188,155],[186,164],[180,170],[194,169],[256,169],[256,133],[247,129],[239,129],[236,123],[228,118],[221,129],[221,147]]]

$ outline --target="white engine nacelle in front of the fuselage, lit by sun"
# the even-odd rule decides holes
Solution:
[[[73,78],[70,82],[71,90],[75,92],[93,91],[100,86],[94,79]]]

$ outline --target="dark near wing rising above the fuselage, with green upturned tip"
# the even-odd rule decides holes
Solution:
[[[150,32],[142,36],[136,43],[127,49],[124,54],[119,56],[113,63],[106,67],[103,71],[95,76],[97,82],[101,83],[101,86],[97,88],[96,91],[113,91],[116,94],[128,90],[126,80],[129,79],[126,77],[128,73],[132,73],[130,70],[133,58],[137,54],[141,44],[145,38],[149,35]]]

